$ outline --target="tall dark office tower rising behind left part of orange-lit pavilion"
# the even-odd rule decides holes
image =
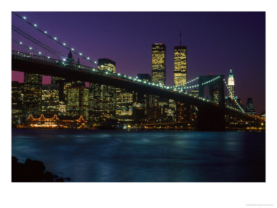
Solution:
[[[24,73],[23,110],[25,119],[42,112],[42,75]]]

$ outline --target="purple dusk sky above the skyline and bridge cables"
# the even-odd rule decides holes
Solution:
[[[116,72],[151,74],[151,46],[166,44],[167,85],[173,85],[173,48],[188,47],[188,80],[199,75],[235,77],[235,94],[256,112],[265,110],[265,12],[18,12],[48,35],[91,60],[109,58]],[[15,15],[12,24],[24,25]],[[29,28],[27,31],[30,31]],[[12,32],[12,37],[16,37]],[[53,42],[48,40],[48,42]],[[55,44],[55,42],[54,42]],[[19,50],[15,44],[12,49]],[[68,53],[68,51],[64,52]],[[75,58],[75,57],[74,57]],[[75,58],[76,59],[76,58]],[[80,60],[81,64],[86,64]],[[12,71],[23,82],[23,73]],[[44,76],[43,83],[50,83]]]

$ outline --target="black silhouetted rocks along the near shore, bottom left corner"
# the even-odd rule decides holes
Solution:
[[[12,156],[12,182],[65,182],[69,177],[58,177],[46,171],[43,162],[27,158],[25,163]]]

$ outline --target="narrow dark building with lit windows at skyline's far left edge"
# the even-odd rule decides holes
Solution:
[[[12,81],[12,126],[21,123],[23,94],[22,85],[17,81]]]

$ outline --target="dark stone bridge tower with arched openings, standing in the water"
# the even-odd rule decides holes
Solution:
[[[204,84],[217,76],[199,76],[199,97],[204,98],[204,89],[208,87],[208,99],[214,101],[214,91],[217,90],[217,102],[220,107],[211,105],[199,105],[197,128],[202,131],[224,131],[225,130],[225,102],[224,102],[224,76],[220,75],[211,83]]]

